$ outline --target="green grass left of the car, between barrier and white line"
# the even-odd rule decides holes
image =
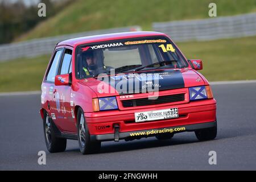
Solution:
[[[0,63],[0,92],[40,90],[48,56]]]

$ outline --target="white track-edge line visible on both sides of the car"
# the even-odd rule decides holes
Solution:
[[[226,85],[226,84],[250,84],[256,83],[256,80],[238,80],[238,81],[212,81],[210,85]],[[28,96],[34,94],[41,94],[40,90],[27,92],[3,92],[0,96]]]

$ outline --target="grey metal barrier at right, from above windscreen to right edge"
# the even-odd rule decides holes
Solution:
[[[166,33],[177,42],[253,36],[256,35],[256,13],[203,20],[153,23],[153,29]]]

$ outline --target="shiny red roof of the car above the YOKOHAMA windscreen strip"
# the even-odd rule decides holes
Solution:
[[[68,39],[58,43],[57,46],[75,47],[76,45],[86,44],[86,43],[102,42],[102,41],[126,39],[126,38],[138,38],[143,36],[167,36],[167,35],[160,32],[151,32],[151,31],[122,32],[122,33],[102,34],[102,35],[84,36],[84,37],[75,38],[75,39]]]

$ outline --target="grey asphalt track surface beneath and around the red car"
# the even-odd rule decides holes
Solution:
[[[218,135],[199,142],[194,133],[171,140],[154,137],[103,142],[99,154],[81,155],[76,140],[67,150],[50,154],[39,115],[40,94],[0,96],[0,170],[255,170],[256,83],[213,85],[217,100]],[[38,152],[46,151],[46,165]],[[209,151],[217,164],[208,163]]]

